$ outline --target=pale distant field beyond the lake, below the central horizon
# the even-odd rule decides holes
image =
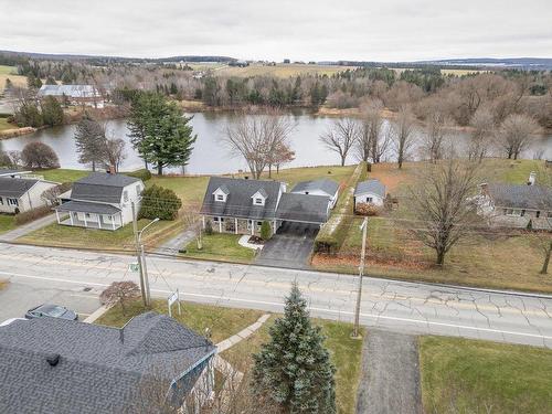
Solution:
[[[275,76],[275,77],[295,77],[300,75],[328,75],[331,76],[336,73],[346,70],[354,70],[355,66],[336,66],[336,65],[309,65],[309,64],[284,64],[278,63],[276,66],[265,66],[262,64],[251,64],[246,67],[237,66],[215,66],[213,68],[216,76]]]

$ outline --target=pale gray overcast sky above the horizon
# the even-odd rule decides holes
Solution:
[[[552,0],[0,0],[0,50],[302,61],[552,57]]]

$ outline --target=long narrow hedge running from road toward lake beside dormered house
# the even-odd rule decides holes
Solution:
[[[353,219],[354,189],[359,181],[365,180],[367,176],[367,164],[360,162],[341,191],[333,214],[315,238],[315,253],[333,254],[339,252]]]

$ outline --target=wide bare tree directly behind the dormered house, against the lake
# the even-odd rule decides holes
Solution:
[[[244,113],[226,127],[224,139],[234,155],[245,159],[253,177],[259,179],[282,146],[289,147],[291,130],[288,118],[277,112],[254,116]]]

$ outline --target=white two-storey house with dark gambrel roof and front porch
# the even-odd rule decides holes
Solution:
[[[132,204],[138,214],[142,190],[144,182],[140,179],[110,172],[93,172],[75,181],[71,194],[64,194],[64,199],[70,201],[55,209],[57,223],[117,230],[132,221]]]

